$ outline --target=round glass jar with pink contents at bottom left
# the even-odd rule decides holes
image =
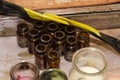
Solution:
[[[39,80],[37,66],[29,62],[20,62],[10,69],[10,80]]]

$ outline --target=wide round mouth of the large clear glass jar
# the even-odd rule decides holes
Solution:
[[[99,68],[99,66],[101,66],[100,64],[95,66],[94,62],[92,63],[90,60],[89,60],[89,62],[86,61],[87,63],[84,63],[84,65],[78,64],[78,63],[82,62],[79,57],[82,56],[80,54],[82,54],[84,52],[89,53],[89,54],[92,54],[92,53],[97,54],[98,53],[103,60],[103,61],[101,61],[101,63],[103,62],[102,63],[103,67]],[[84,56],[86,56],[86,55],[84,55]],[[85,60],[86,59],[84,58],[84,61]],[[73,62],[72,63],[73,67],[77,72],[83,73],[83,74],[86,74],[86,75],[98,75],[98,74],[101,74],[102,72],[104,72],[107,68],[107,60],[106,60],[105,55],[103,54],[102,51],[100,51],[96,48],[93,48],[93,47],[86,47],[86,48],[82,48],[82,49],[79,49],[78,51],[76,51],[75,54],[73,55],[72,62]],[[96,71],[88,72],[88,71],[83,69],[84,67],[88,67],[89,69],[96,69]]]

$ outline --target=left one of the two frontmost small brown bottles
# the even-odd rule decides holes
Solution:
[[[46,69],[45,55],[47,52],[47,46],[44,44],[37,44],[35,47],[35,63],[40,70]]]

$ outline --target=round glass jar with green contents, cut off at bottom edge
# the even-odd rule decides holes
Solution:
[[[60,69],[48,69],[41,73],[39,80],[68,80],[68,78]]]

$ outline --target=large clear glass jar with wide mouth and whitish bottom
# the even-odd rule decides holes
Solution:
[[[106,80],[106,58],[100,50],[86,47],[75,52],[69,80]]]

